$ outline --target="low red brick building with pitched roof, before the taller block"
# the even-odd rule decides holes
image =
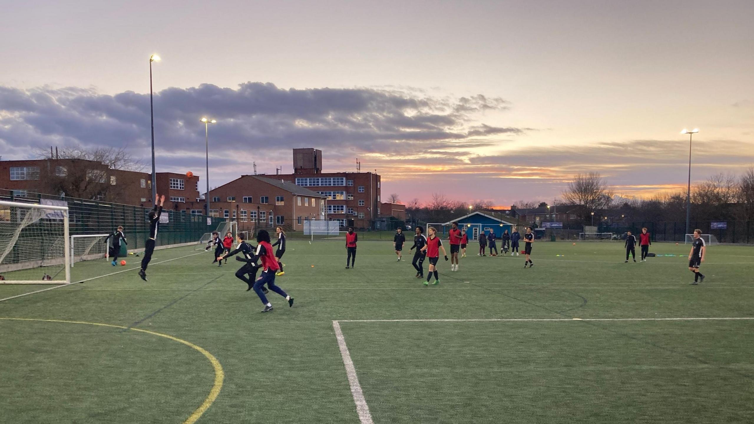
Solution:
[[[241,231],[278,225],[302,231],[305,221],[325,219],[325,195],[274,177],[242,175],[210,190],[210,215],[237,221]]]

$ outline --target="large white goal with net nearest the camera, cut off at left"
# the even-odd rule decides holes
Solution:
[[[70,284],[70,265],[68,206],[0,201],[0,284]]]

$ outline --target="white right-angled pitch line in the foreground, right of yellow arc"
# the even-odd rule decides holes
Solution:
[[[345,373],[348,376],[348,386],[351,387],[351,396],[356,404],[356,412],[359,415],[361,424],[373,424],[372,413],[369,412],[369,405],[366,404],[364,392],[359,383],[359,377],[356,373],[354,361],[351,359],[351,352],[348,351],[348,345],[345,343],[345,336],[341,330],[342,322],[463,322],[463,321],[746,321],[754,320],[754,317],[721,317],[721,318],[480,318],[480,319],[343,319],[333,321],[333,330],[335,338],[338,341],[338,348],[345,366]]]

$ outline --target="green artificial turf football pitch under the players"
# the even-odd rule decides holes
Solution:
[[[4,300],[0,317],[120,327],[0,320],[0,422],[191,422],[213,365],[149,330],[222,366],[196,422],[359,423],[333,321],[376,424],[754,422],[754,320],[654,320],[754,318],[752,247],[710,246],[698,286],[683,244],[623,263],[620,242],[538,242],[532,269],[474,247],[425,287],[390,241],[360,243],[355,269],[342,241],[289,241],[276,281],[296,304],[270,293],[268,314],[241,263],[192,247],[156,251],[149,282],[133,256],[77,263],[73,281],[125,272]]]

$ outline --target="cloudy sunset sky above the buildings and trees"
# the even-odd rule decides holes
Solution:
[[[0,155],[125,146],[205,177],[377,170],[382,193],[551,201],[579,172],[622,195],[754,165],[754,2],[9,2]]]

